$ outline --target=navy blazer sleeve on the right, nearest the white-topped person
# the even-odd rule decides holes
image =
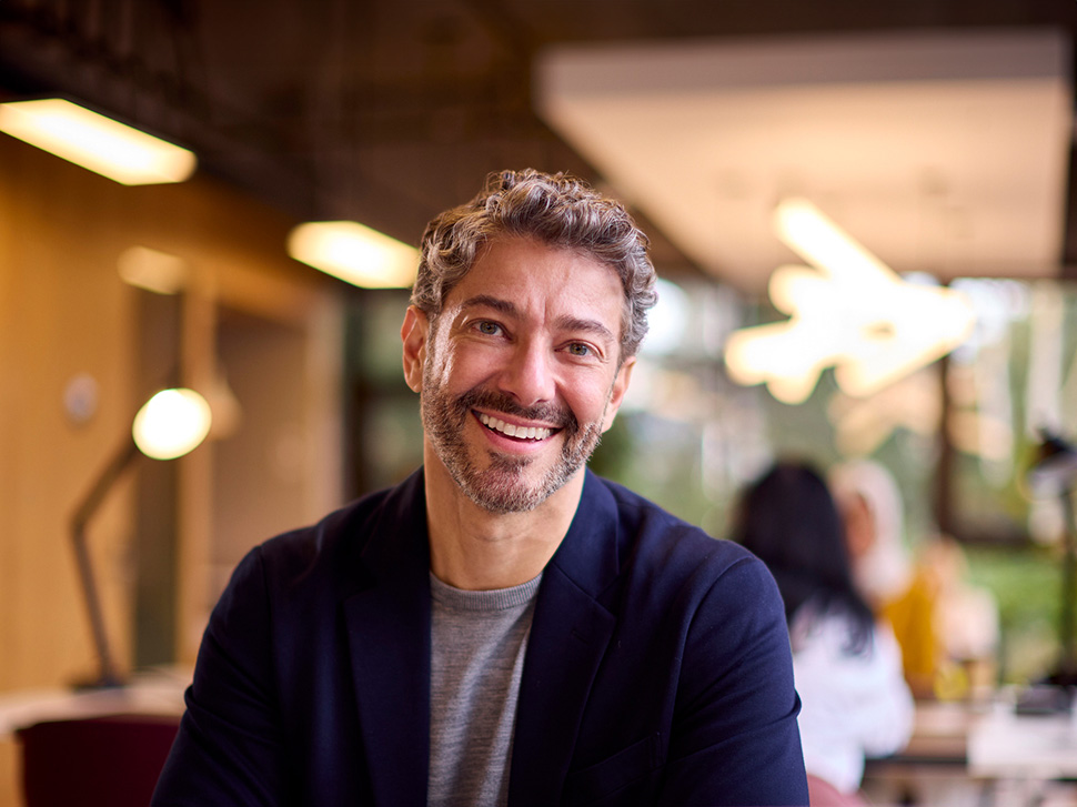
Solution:
[[[662,805],[807,805],[784,607],[753,557],[728,567],[687,629]]]

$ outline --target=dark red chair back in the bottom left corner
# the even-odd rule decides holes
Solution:
[[[108,715],[19,729],[26,807],[147,807],[179,725]]]

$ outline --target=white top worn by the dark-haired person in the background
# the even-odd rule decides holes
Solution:
[[[801,696],[801,743],[809,774],[854,793],[864,758],[899,751],[913,734],[913,695],[902,650],[889,627],[876,623],[870,644],[848,649],[847,612],[821,614],[811,603],[793,619],[793,674]]]

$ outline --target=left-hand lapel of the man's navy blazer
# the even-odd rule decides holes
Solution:
[[[343,604],[375,805],[426,804],[430,549],[422,491],[419,473],[386,501],[363,553],[368,585]]]

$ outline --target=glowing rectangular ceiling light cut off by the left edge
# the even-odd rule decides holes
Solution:
[[[197,163],[187,149],[60,98],[0,104],[0,131],[124,185],[182,182]]]

